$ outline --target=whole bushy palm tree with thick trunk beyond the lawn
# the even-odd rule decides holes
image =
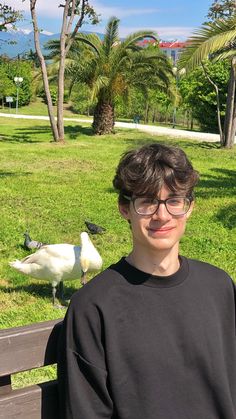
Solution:
[[[145,37],[156,39],[154,32],[135,32],[121,41],[118,27],[119,19],[112,17],[103,40],[96,34],[79,33],[76,36],[77,45],[81,42],[87,45],[87,52],[79,63],[75,58],[76,71],[73,66],[71,71],[75,80],[90,87],[91,100],[96,99],[93,120],[96,134],[113,131],[115,98],[119,95],[128,97],[131,86],[146,91],[151,83],[162,89],[167,89],[170,83],[171,65],[166,56],[158,47],[153,52],[137,44]]]

